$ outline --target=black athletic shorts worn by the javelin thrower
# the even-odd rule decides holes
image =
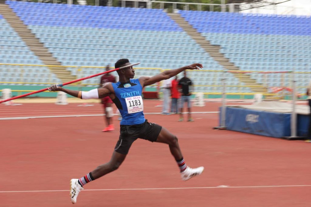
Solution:
[[[123,155],[128,154],[128,150],[137,138],[156,142],[161,129],[160,125],[149,123],[147,119],[142,124],[120,125],[120,137],[114,150]]]

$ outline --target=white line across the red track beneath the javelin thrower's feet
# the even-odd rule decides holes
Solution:
[[[149,191],[149,190],[184,190],[184,189],[216,189],[216,188],[279,188],[279,187],[311,187],[311,185],[274,185],[274,186],[227,186],[227,187],[170,187],[170,188],[119,188],[119,189],[88,189],[83,191]],[[32,193],[32,192],[63,192],[69,190],[47,191],[0,191],[0,193]]]

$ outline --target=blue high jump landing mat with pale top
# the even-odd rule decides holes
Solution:
[[[309,106],[296,105],[295,110],[297,113],[297,136],[306,137],[309,127]],[[226,106],[225,125],[228,130],[232,131],[268,137],[289,137],[291,111],[291,103],[278,101]],[[219,117],[221,117],[221,107]]]

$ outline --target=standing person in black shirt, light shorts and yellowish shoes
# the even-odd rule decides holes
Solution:
[[[178,85],[181,87],[181,106],[180,106],[180,117],[179,121],[183,121],[183,105],[185,102],[187,102],[188,106],[188,121],[193,121],[191,117],[191,103],[190,103],[190,96],[192,92],[192,82],[187,77],[187,72],[183,71],[183,78],[179,80]]]

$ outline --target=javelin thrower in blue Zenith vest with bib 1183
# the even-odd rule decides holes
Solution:
[[[131,65],[128,59],[120,59],[115,63],[115,68]],[[135,71],[132,66],[117,70],[119,82],[106,83],[103,88],[93,89],[88,92],[73,91],[52,85],[51,91],[63,91],[81,99],[103,98],[109,96],[119,109],[122,115],[120,122],[120,136],[115,146],[112,158],[109,162],[98,166],[92,172],[80,179],[71,179],[70,197],[71,202],[77,202],[77,196],[83,186],[103,175],[110,173],[122,164],[132,143],[137,139],[146,139],[151,142],[161,142],[169,145],[169,150],[174,156],[181,173],[181,178],[186,181],[193,176],[200,175],[204,167],[190,168],[185,163],[180,151],[177,137],[171,134],[166,128],[154,123],[149,123],[143,114],[142,88],[152,85],[161,80],[169,79],[184,70],[203,68],[199,63],[194,63],[175,70],[165,70],[152,77],[140,77],[133,79]]]

